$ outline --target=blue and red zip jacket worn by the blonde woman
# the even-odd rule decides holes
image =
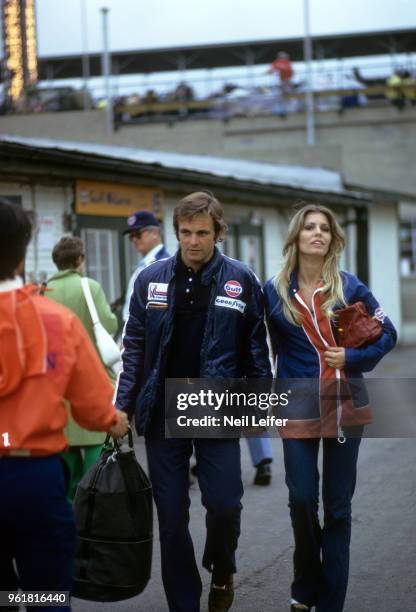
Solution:
[[[337,343],[333,325],[320,309],[321,287],[314,292],[311,311],[299,290],[297,273],[292,274],[289,295],[303,315],[301,326],[286,319],[273,281],[269,280],[264,287],[277,378],[286,379],[287,385],[296,391],[280,415],[289,419],[280,430],[282,437],[337,437],[343,435],[343,427],[371,422],[368,394],[364,382],[360,382],[362,373],[372,370],[394,347],[397,334],[368,287],[353,274],[341,272],[341,277],[347,305],[363,302],[367,312],[382,326],[382,334],[375,342],[345,349],[343,369],[331,368],[325,360],[325,351]],[[343,307],[339,304],[334,312]]]

